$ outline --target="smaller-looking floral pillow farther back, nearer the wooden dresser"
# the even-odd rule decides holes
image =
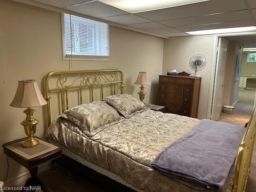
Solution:
[[[130,94],[111,95],[102,100],[113,106],[126,119],[130,118],[133,113],[146,109],[143,102]]]

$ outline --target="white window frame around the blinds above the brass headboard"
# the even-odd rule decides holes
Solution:
[[[67,14],[70,14],[70,13],[67,13]],[[77,15],[74,15],[74,16],[77,16]],[[71,54],[66,54],[66,39],[65,39],[66,34],[65,34],[64,13],[61,13],[61,35],[62,35],[62,59],[63,60],[110,61],[110,31],[109,31],[109,56],[104,56],[104,55],[72,55],[71,56]]]

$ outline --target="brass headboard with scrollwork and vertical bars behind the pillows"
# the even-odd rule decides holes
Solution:
[[[51,82],[50,82],[51,81]],[[119,88],[123,94],[123,73],[121,70],[95,70],[95,71],[53,71],[44,78],[45,99],[47,101],[47,123],[51,124],[51,94],[59,95],[61,112],[69,109],[69,91],[76,91],[77,104],[82,104],[84,100],[83,90],[89,89],[90,102],[94,100],[94,89],[99,88],[100,99],[104,95],[104,87],[110,87],[110,94],[116,94]],[[118,86],[118,87],[117,87]],[[87,97],[88,98],[88,97]]]

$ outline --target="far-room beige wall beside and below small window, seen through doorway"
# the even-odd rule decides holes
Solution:
[[[247,53],[243,53],[241,76],[256,76],[256,62],[247,62]]]

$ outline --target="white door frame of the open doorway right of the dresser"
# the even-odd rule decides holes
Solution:
[[[212,51],[212,59],[211,59],[211,67],[210,67],[210,82],[209,82],[209,93],[208,93],[208,104],[207,104],[207,119],[211,118],[211,109],[212,109],[212,101],[214,99],[214,90],[215,90],[215,72],[217,69],[217,51],[218,51],[218,40],[219,37],[226,36],[243,36],[243,35],[256,35],[256,31],[250,32],[237,32],[237,33],[222,33],[222,34],[214,34],[214,48]]]

